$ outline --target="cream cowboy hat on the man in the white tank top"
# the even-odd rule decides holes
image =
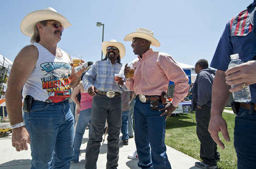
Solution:
[[[34,33],[35,24],[43,20],[57,20],[64,28],[72,26],[63,15],[59,14],[52,7],[48,7],[44,10],[33,11],[25,16],[22,23],[20,23],[20,30],[24,35],[31,37]]]

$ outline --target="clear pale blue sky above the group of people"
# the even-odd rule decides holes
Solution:
[[[252,3],[252,0],[80,0],[80,1],[1,1],[0,54],[14,60],[30,38],[20,32],[20,22],[34,10],[53,7],[73,26],[63,32],[59,47],[85,61],[101,58],[102,27],[104,40],[116,39],[126,47],[122,63],[136,57],[131,42],[123,38],[138,27],[154,31],[161,47],[153,50],[171,54],[184,64],[195,65],[200,58],[212,60],[225,24]]]

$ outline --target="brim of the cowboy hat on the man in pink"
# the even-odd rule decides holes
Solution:
[[[151,42],[151,44],[150,44],[151,46],[160,47],[160,43],[157,39],[155,39],[155,37],[147,35],[145,33],[141,33],[141,32],[129,33],[128,35],[125,36],[125,41],[133,41],[134,37],[146,39]]]

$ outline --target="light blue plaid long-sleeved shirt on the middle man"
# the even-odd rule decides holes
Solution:
[[[123,64],[118,64],[118,62],[113,65],[109,59],[95,62],[82,78],[85,90],[88,91],[88,88],[93,85],[100,91],[122,92],[126,87],[119,87],[114,79],[115,73],[119,73],[122,66]]]

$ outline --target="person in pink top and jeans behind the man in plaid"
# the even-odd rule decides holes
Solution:
[[[88,65],[88,70],[90,65]],[[82,77],[85,75],[86,71],[81,75],[81,82],[79,85],[73,90],[71,99],[76,104],[76,113],[79,114],[79,118],[77,120],[76,125],[76,133],[74,139],[74,156],[71,160],[73,163],[79,162],[79,154],[80,154],[80,147],[82,143],[82,136],[84,136],[84,131],[86,126],[88,126],[91,118],[91,110],[92,110],[92,96],[88,94],[84,90],[84,86],[82,84]],[[80,93],[81,98],[80,100],[77,98],[77,95]],[[90,126],[89,126],[89,133],[90,133]]]

